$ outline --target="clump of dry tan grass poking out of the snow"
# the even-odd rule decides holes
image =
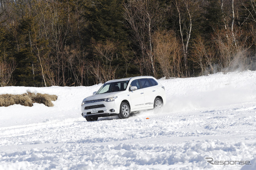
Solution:
[[[57,100],[56,95],[48,95],[48,94],[41,94],[41,93],[24,93],[22,95],[0,95],[0,107],[10,106],[14,104],[20,104],[23,106],[32,107],[33,103],[43,103],[48,107],[52,107],[52,101]]]

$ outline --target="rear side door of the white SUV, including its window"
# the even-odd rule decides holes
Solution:
[[[147,78],[140,79],[140,84],[144,91],[145,106],[144,107],[154,107],[154,99],[156,97],[156,89],[151,85]]]

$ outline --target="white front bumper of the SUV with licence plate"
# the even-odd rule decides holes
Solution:
[[[114,109],[114,111],[111,111]],[[119,108],[116,107],[115,101],[112,102],[95,102],[86,103],[81,106],[82,116],[86,117],[106,117],[112,114],[118,114]],[[95,113],[97,111],[97,113]]]

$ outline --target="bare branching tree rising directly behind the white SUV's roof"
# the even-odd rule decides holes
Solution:
[[[132,29],[132,40],[140,48],[140,72],[143,74],[143,69],[147,68],[148,73],[152,71],[153,75],[156,75],[152,53],[152,28],[159,22],[158,3],[154,0],[128,0],[124,9],[126,26]]]

